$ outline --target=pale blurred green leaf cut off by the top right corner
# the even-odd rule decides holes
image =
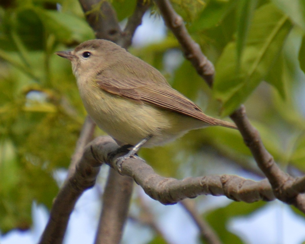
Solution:
[[[305,31],[305,1],[304,0],[272,0],[272,2],[287,14],[291,20]]]

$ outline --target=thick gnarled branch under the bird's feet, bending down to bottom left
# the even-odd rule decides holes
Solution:
[[[163,204],[174,204],[182,199],[194,198],[199,195],[227,196],[235,201],[244,201],[247,203],[252,203],[258,200],[271,201],[275,199],[271,185],[266,179],[255,182],[235,175],[214,175],[186,178],[183,180],[164,178],[156,174],[152,167],[147,165],[144,160],[139,158],[130,158],[125,160],[119,169],[116,164],[116,158],[121,156],[121,154],[116,156],[112,155],[113,152],[117,151],[118,148],[119,146],[109,136],[98,137],[86,146],[80,161],[77,163],[76,170],[70,175],[68,180],[65,181],[54,201],[51,216],[41,237],[41,241],[39,242],[40,244],[62,243],[66,225],[69,220],[70,213],[74,208],[74,204],[84,190],[92,187],[95,184],[99,167],[103,162],[107,163],[110,167],[113,167],[117,172],[133,178],[133,180],[144,189],[147,195]],[[115,178],[109,178],[109,181],[111,179],[113,180]],[[126,182],[129,182],[128,184],[132,184],[131,180],[128,179],[125,181],[125,183],[123,183],[123,185],[126,184]],[[117,181],[111,183],[111,185],[116,184]],[[119,188],[121,187],[119,186]],[[122,188],[123,191],[129,192],[129,186]],[[112,194],[110,192],[107,194]],[[126,200],[126,202],[128,202],[126,198],[128,195],[129,194],[126,194],[123,198]],[[297,196],[297,200],[301,203],[304,200],[303,196],[304,195],[300,194]],[[118,222],[123,223],[124,221],[122,220],[126,217],[127,206],[122,204],[122,202],[119,203],[118,201],[114,203],[114,201],[112,201],[114,199],[113,195],[112,197],[105,196],[104,198],[110,201],[106,203],[106,205],[116,205],[113,210],[117,210],[118,206],[124,207],[125,210],[117,214],[117,218],[120,219],[120,221],[115,221],[113,224]],[[302,209],[302,206],[298,206],[299,209]],[[109,208],[105,208],[105,211],[106,210],[109,210]],[[109,213],[105,212],[104,218],[109,218],[107,214]],[[111,216],[113,215],[111,214]],[[107,220],[107,222],[108,221],[109,220]],[[107,228],[111,228],[109,222],[107,225]],[[123,224],[120,225],[120,230],[122,226]],[[104,227],[101,227],[101,229],[102,228]],[[107,232],[106,230],[107,229],[105,227],[103,231]],[[97,240],[100,240],[99,238],[100,237],[97,237]],[[118,239],[118,236],[114,235],[114,238]],[[107,242],[100,241],[96,243]]]

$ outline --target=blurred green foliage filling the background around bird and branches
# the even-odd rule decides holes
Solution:
[[[112,1],[119,20],[132,14],[135,2]],[[289,166],[303,173],[304,1],[175,0],[173,4],[192,38],[215,64],[213,89],[188,61],[178,58],[174,66],[164,61],[170,51],[180,52],[170,32],[163,41],[130,51],[163,72],[175,89],[211,116],[226,116],[245,103],[274,159],[284,170]],[[68,167],[86,112],[70,63],[53,53],[92,39],[94,33],[76,0],[2,1],[0,22],[0,229],[4,233],[29,228],[33,200],[50,207],[56,196],[54,172]],[[259,174],[238,131],[227,128],[191,131],[140,154],[163,176],[219,173],[206,167],[219,161]],[[224,243],[241,243],[226,224],[263,205],[231,203],[204,215]],[[164,240],[156,237],[151,243]]]

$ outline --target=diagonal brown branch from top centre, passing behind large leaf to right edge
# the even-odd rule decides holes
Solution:
[[[191,61],[198,74],[203,77],[207,84],[212,87],[213,84],[213,65],[206,59],[200,50],[200,47],[189,35],[181,16],[179,16],[171,6],[168,0],[155,0],[163,16],[167,27],[174,33],[178,39],[185,56]],[[291,176],[283,172],[274,162],[273,157],[265,149],[258,131],[251,125],[246,117],[244,106],[241,106],[230,116],[239,128],[240,133],[251,150],[257,165],[264,172],[272,185],[274,195],[281,201],[293,204],[301,211],[305,212],[305,196],[299,196],[300,193],[293,190]],[[303,192],[303,191],[302,191]],[[302,195],[302,194],[301,194]]]

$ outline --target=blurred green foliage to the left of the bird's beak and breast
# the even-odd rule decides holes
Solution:
[[[0,5],[0,228],[27,229],[33,200],[50,207],[84,109],[70,66],[53,53],[94,38],[76,1]]]

